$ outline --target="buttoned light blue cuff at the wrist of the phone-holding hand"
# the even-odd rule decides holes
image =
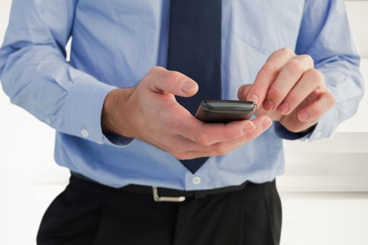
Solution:
[[[97,144],[125,147],[132,138],[120,135],[105,135],[102,132],[101,116],[104,99],[111,90],[118,87],[102,83],[92,76],[86,75],[72,78],[74,85],[68,91],[67,132]]]

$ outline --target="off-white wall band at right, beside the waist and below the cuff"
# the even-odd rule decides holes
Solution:
[[[284,141],[282,191],[368,191],[368,133],[320,141]]]

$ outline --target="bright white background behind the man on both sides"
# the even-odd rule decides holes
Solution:
[[[346,5],[368,80],[368,1]],[[1,41],[10,7],[11,0],[0,0]],[[287,172],[278,178],[282,245],[368,244],[367,111],[366,96],[334,138],[285,142]],[[53,160],[54,130],[11,105],[1,90],[0,112],[0,244],[35,244],[43,212],[69,172]]]

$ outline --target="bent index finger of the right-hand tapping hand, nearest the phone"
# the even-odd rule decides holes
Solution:
[[[257,73],[256,79],[248,91],[247,100],[256,102],[258,105],[262,104],[268,88],[278,76],[280,69],[295,56],[294,51],[289,48],[282,48],[273,52]]]

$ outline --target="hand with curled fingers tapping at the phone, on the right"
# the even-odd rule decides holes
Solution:
[[[256,102],[257,116],[277,120],[291,132],[308,130],[336,103],[312,57],[289,48],[273,52],[254,83],[239,88],[238,98]]]

